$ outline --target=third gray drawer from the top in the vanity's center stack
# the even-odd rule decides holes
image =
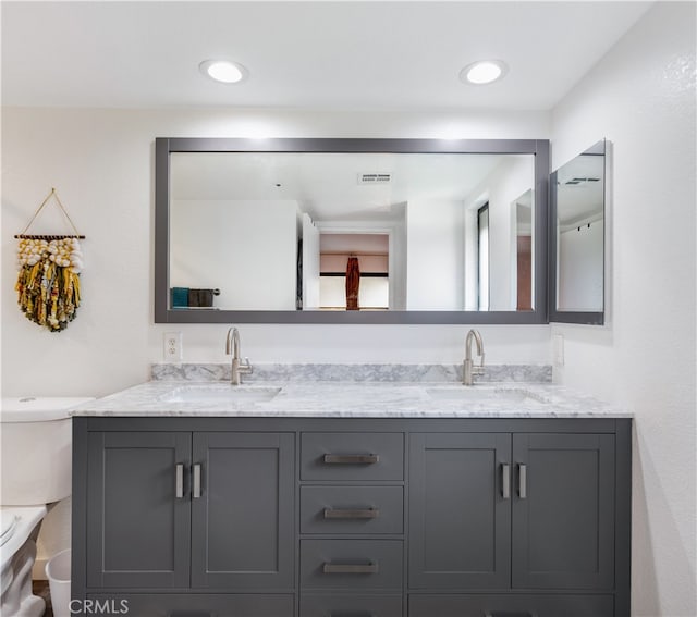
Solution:
[[[304,589],[402,589],[401,540],[303,540]]]

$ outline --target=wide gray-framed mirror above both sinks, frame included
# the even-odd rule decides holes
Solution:
[[[156,140],[156,322],[543,323],[546,140]]]

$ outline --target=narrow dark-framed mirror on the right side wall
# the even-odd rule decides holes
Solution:
[[[607,150],[602,139],[550,178],[550,321],[604,322]]]

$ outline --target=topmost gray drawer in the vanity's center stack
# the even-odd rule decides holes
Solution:
[[[303,433],[302,480],[402,480],[402,433]]]

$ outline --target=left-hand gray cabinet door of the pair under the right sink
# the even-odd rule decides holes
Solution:
[[[508,433],[411,435],[412,589],[510,587],[510,454]]]

